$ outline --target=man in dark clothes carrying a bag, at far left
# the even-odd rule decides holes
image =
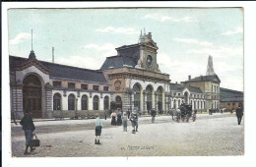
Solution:
[[[31,147],[31,152],[35,149],[30,144],[30,142],[32,140],[32,132],[35,130],[35,127],[33,125],[32,115],[29,110],[25,111],[25,115],[22,118],[20,124],[23,126],[23,130],[24,130],[25,138],[26,138],[26,149],[25,149],[24,154],[28,155],[28,154],[30,154],[30,152],[28,152],[29,146]]]

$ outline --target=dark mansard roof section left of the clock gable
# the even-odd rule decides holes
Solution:
[[[100,70],[107,70],[111,68],[122,68],[124,66],[135,67],[137,64],[132,57],[129,56],[111,56],[107,57],[101,66]]]

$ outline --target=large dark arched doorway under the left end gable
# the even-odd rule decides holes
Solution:
[[[34,75],[23,81],[23,109],[32,112],[32,118],[41,118],[41,83]]]

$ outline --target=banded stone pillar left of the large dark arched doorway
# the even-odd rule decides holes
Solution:
[[[23,84],[11,84],[11,113],[13,119],[21,120],[23,112]]]

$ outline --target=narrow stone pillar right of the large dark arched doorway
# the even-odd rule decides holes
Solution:
[[[52,118],[52,86],[49,83],[44,85],[45,89],[45,111],[42,111],[42,118]]]

